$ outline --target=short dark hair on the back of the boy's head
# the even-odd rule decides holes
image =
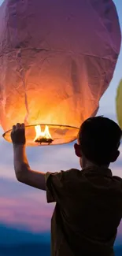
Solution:
[[[122,131],[107,117],[91,117],[79,129],[79,145],[84,156],[98,165],[109,164],[120,147]]]

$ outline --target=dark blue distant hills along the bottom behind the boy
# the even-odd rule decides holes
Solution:
[[[50,256],[50,233],[34,234],[0,224],[0,256]],[[115,247],[122,256],[122,245]]]

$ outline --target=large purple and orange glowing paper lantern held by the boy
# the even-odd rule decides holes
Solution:
[[[5,0],[0,7],[0,124],[27,145],[76,139],[98,111],[120,53],[112,0]]]

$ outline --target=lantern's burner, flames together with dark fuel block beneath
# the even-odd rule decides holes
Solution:
[[[49,128],[48,126],[46,125],[46,128],[44,130],[44,132],[42,132],[41,130],[41,125],[36,125],[35,126],[35,139],[34,141],[36,143],[52,143],[53,139],[52,139],[52,136],[50,135],[50,132],[49,132]]]

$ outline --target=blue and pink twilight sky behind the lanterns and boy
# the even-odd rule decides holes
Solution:
[[[0,4],[3,1],[0,0]],[[120,17],[122,28],[122,1],[114,0]],[[113,81],[100,102],[99,114],[104,114],[116,120],[116,87],[122,77],[122,49],[116,65]],[[2,129],[0,130],[2,135]],[[122,147],[120,147],[122,152]],[[28,160],[31,169],[40,171],[60,171],[61,169],[79,168],[79,162],[74,154],[72,144],[66,146],[28,148]],[[122,177],[122,154],[112,166],[113,173]],[[13,172],[12,145],[0,139],[0,224],[16,228],[24,228],[31,232],[49,232],[50,217],[54,205],[46,203],[43,191],[19,184]],[[118,231],[117,242],[122,240],[122,223]],[[121,242],[122,243],[122,242]]]

